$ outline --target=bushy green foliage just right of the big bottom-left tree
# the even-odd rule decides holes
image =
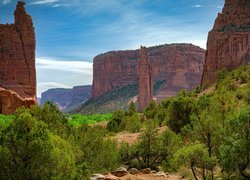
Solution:
[[[116,143],[105,139],[107,135],[105,129],[87,125],[79,126],[71,132],[77,157],[76,165],[84,174],[107,172],[117,167]]]

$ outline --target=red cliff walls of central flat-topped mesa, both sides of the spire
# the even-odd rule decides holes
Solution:
[[[147,48],[153,82],[165,81],[155,98],[160,101],[181,89],[200,84],[205,50],[192,44],[166,44]],[[140,50],[111,51],[94,58],[92,97],[139,82]]]

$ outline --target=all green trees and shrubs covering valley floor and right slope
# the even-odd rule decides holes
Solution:
[[[194,179],[249,179],[250,66],[218,77],[214,90],[181,91],[143,114],[131,103],[113,113],[107,129],[74,126],[51,103],[20,109],[0,124],[0,177],[89,179],[127,165],[181,169]],[[159,134],[163,125],[169,128]],[[138,141],[118,146],[111,135],[120,131],[140,132]]]

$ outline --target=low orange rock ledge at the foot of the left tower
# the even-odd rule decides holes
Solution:
[[[31,107],[36,101],[33,98],[23,99],[11,90],[0,88],[0,114],[13,114],[20,107]]]

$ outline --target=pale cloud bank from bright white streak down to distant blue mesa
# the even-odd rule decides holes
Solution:
[[[92,84],[92,63],[37,58],[37,97],[51,88],[72,88]]]

